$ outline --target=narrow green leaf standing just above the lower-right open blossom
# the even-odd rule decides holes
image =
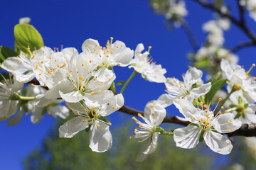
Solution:
[[[213,99],[219,89],[221,89],[227,83],[227,79],[219,79],[212,84],[210,91],[206,94],[205,103],[209,103]]]

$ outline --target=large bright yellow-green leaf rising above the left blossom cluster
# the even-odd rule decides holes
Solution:
[[[17,24],[14,27],[14,46],[15,51],[19,54],[20,51],[28,54],[28,45],[32,49],[36,47],[39,49],[43,47],[43,38],[41,34],[38,33],[38,30],[31,25],[28,24]]]

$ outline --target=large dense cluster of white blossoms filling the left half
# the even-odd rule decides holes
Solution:
[[[92,151],[110,149],[111,123],[105,116],[124,105],[122,93],[116,94],[112,89],[116,78],[113,67],[129,66],[134,68],[134,74],[140,73],[148,81],[166,81],[166,69],[149,57],[151,47],[142,53],[144,45],[139,44],[134,52],[124,42],[110,39],[105,47],[97,40],[87,39],[81,53],[73,47],[60,51],[50,47],[31,51],[28,47],[27,52],[4,60],[1,68],[9,72],[9,79],[2,75],[1,121],[9,118],[8,125],[16,125],[26,111],[32,113],[31,121],[38,123],[47,111],[60,118],[68,118],[72,111],[75,118],[60,126],[60,137],[70,138],[88,130]],[[30,85],[22,90],[24,84]],[[60,104],[63,101],[68,108]]]

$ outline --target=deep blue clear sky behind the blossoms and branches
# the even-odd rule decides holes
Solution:
[[[213,13],[193,1],[186,1],[188,20],[198,45],[203,45],[206,34],[202,24],[213,18]],[[233,1],[234,2],[234,1]],[[235,3],[230,3],[233,12],[237,12]],[[2,1],[0,11],[0,45],[14,49],[14,26],[21,17],[30,17],[31,25],[41,33],[44,44],[48,47],[76,47],[81,52],[81,45],[87,38],[93,38],[105,45],[110,37],[123,41],[127,47],[135,50],[138,43],[145,48],[152,46],[151,55],[156,64],[167,69],[166,77],[181,79],[190,64],[187,53],[193,49],[182,28],[168,30],[164,16],[158,16],[149,7],[148,1]],[[252,30],[255,23],[250,18],[246,21]],[[225,46],[234,47],[247,37],[238,28],[231,26],[225,32]],[[255,60],[256,49],[248,47],[237,53],[240,64],[249,69]],[[117,81],[127,80],[133,69],[118,67],[115,69]],[[255,73],[255,70],[252,72]],[[164,93],[164,84],[150,83],[137,74],[124,91],[127,106],[143,111],[148,101]],[[174,107],[167,108],[168,115],[178,115]],[[112,125],[118,125],[131,116],[114,113],[108,116]],[[23,157],[41,145],[43,137],[54,123],[54,118],[46,116],[38,125],[24,116],[21,123],[6,127],[6,121],[0,123],[0,164],[1,169],[22,169]],[[132,120],[131,120],[131,123]],[[88,147],[88,149],[90,149]]]

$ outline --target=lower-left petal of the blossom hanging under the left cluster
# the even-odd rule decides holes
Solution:
[[[85,128],[88,128],[88,126],[89,124],[86,118],[83,118],[81,116],[75,117],[60,126],[59,137],[71,138],[81,130],[85,130]]]

